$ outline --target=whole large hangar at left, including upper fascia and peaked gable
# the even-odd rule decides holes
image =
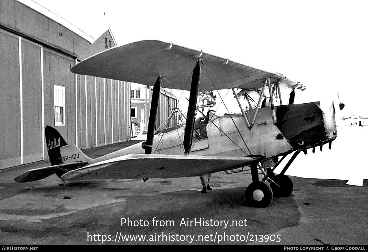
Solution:
[[[88,148],[130,139],[130,83],[76,76],[76,58],[105,50],[36,10],[0,1],[0,169],[47,159],[44,127]],[[113,44],[114,46],[114,44]],[[55,126],[54,85],[65,88],[65,125]]]

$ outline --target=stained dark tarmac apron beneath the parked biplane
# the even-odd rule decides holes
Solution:
[[[137,142],[83,152],[95,158]],[[267,208],[247,206],[250,171],[214,173],[206,194],[199,177],[14,181],[48,165],[0,171],[0,244],[368,244],[368,180],[352,186],[291,177],[293,194],[274,198]]]

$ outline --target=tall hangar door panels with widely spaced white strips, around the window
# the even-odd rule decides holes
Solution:
[[[55,126],[54,85],[64,86],[66,119],[59,126],[74,143],[74,60],[0,29],[0,169],[47,158],[45,125]],[[50,50],[51,51],[51,50]],[[43,73],[43,76],[42,76]],[[74,118],[74,117],[73,117]]]

